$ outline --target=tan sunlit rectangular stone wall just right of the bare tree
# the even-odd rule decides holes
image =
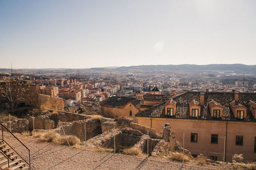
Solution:
[[[52,97],[44,94],[38,94],[37,108],[50,110],[64,110],[63,99],[60,97]]]

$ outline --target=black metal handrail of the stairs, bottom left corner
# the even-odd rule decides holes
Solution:
[[[13,152],[17,153],[19,157],[28,164],[29,169],[31,169],[31,162],[30,162],[30,150],[29,148],[22,143],[12,132],[9,131],[7,127],[1,124],[1,141],[2,143],[6,143]]]

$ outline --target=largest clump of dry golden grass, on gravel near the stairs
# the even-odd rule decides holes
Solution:
[[[60,135],[54,131],[49,132],[32,132],[32,135],[36,138],[39,138],[40,141],[47,141],[56,143],[58,145],[79,145],[81,143],[80,139],[76,136],[68,135],[67,138],[63,135]],[[68,141],[67,141],[68,139]]]

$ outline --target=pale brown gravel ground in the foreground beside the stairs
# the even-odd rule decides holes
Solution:
[[[41,142],[32,136],[15,134],[31,150],[32,169],[223,169],[198,166],[146,155],[129,156],[95,152],[90,148],[74,148]]]

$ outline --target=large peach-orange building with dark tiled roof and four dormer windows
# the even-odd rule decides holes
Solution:
[[[136,115],[138,124],[161,134],[161,126],[171,125],[180,143],[185,141],[194,156],[230,162],[243,154],[256,160],[256,94],[241,92],[184,92]]]

